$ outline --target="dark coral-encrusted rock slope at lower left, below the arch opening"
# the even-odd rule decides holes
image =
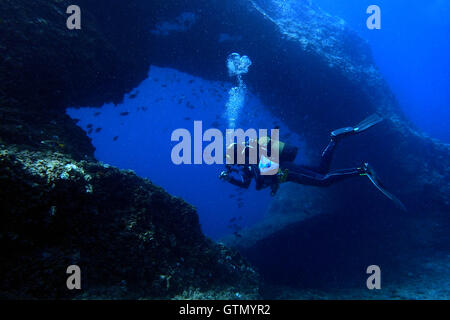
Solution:
[[[256,272],[203,236],[195,209],[133,172],[1,145],[0,190],[2,295],[257,297]]]

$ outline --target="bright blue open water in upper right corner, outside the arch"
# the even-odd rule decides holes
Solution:
[[[314,1],[369,42],[405,114],[428,135],[450,142],[450,2]],[[381,9],[381,30],[366,26],[373,4]]]

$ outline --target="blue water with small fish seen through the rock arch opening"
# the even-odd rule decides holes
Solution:
[[[203,132],[209,128],[224,132],[228,128],[225,105],[228,91],[234,85],[231,81],[212,82],[152,66],[148,79],[128,94],[122,104],[69,108],[68,114],[80,119],[78,125],[88,131],[99,161],[132,169],[194,205],[204,233],[219,239],[260,221],[270,203],[270,191],[257,192],[253,184],[248,190],[239,189],[219,180],[223,165],[173,164],[171,151],[177,142],[171,141],[171,135],[179,128],[193,133],[197,120],[202,121]],[[266,109],[248,92],[237,127],[271,129],[281,125],[283,141],[301,146],[301,138]],[[93,125],[91,131],[89,124]],[[207,145],[205,142],[203,147]],[[231,219],[235,221],[230,223]]]

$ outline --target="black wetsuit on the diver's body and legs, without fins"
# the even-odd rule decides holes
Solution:
[[[280,168],[287,169],[287,177],[285,181],[292,181],[304,185],[326,187],[335,182],[358,176],[361,173],[360,168],[349,168],[330,171],[331,161],[333,159],[334,150],[336,149],[336,139],[331,139],[317,167],[297,165],[292,161],[283,161],[280,157]],[[267,186],[271,186],[272,190],[276,190],[278,186],[277,175],[261,175],[258,165],[241,165],[238,168],[228,167],[229,172],[236,172],[241,179],[230,176],[228,182],[241,188],[248,188],[251,180],[255,179],[256,189],[260,190]]]

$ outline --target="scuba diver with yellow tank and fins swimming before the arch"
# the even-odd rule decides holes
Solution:
[[[255,179],[257,190],[270,187],[271,195],[274,196],[280,183],[284,182],[290,181],[303,185],[327,187],[348,178],[367,176],[378,190],[391,199],[399,208],[406,211],[406,208],[401,201],[384,188],[377,178],[373,168],[367,162],[364,162],[357,168],[330,171],[334,151],[338,142],[342,138],[359,134],[378,124],[382,120],[383,118],[379,115],[373,114],[354,127],[345,127],[332,131],[330,134],[330,142],[322,152],[318,166],[294,164],[293,161],[295,160],[298,152],[298,148],[295,146],[285,144],[281,141],[275,141],[272,144],[270,143],[270,138],[268,137],[259,139],[259,146],[263,146],[266,149],[271,146],[271,148],[275,147],[279,150],[280,163],[278,165],[278,172],[273,175],[261,174],[262,171],[267,168],[268,163],[270,163],[270,160],[264,156],[260,155],[258,164],[248,164],[248,151],[250,147],[248,142],[246,142],[243,146],[243,152],[245,152],[245,163],[237,165],[227,164],[226,170],[221,172],[219,178],[241,188],[248,188],[252,179]],[[233,143],[227,148],[235,148],[235,150],[237,150],[237,144]],[[237,151],[235,154],[237,154]],[[237,163],[237,161],[234,161],[233,163]]]

